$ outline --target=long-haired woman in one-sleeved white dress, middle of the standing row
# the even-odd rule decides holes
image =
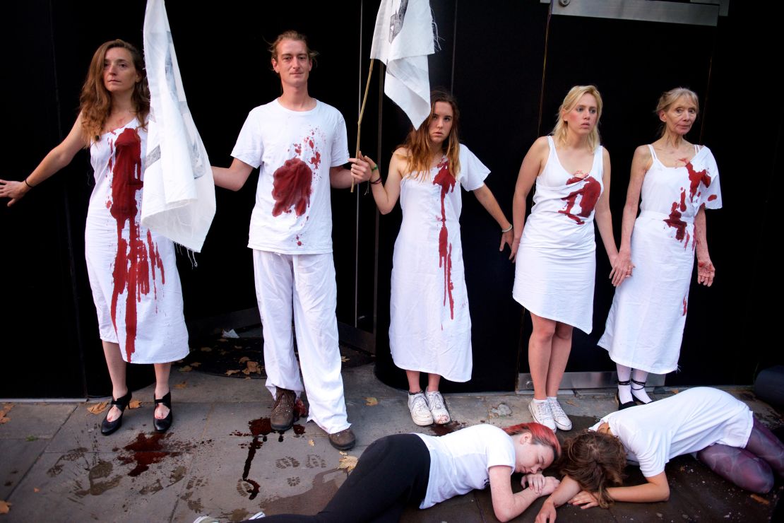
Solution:
[[[510,245],[512,224],[488,187],[489,169],[459,142],[460,114],[448,93],[430,95],[430,117],[411,129],[394,151],[387,182],[371,176],[382,214],[401,200],[403,222],[394,246],[390,303],[390,350],[408,377],[408,409],[417,425],[448,423],[438,391],[441,376],[471,378],[471,318],[463,249],[459,187],[472,191],[501,229],[499,250]],[[365,157],[366,158],[366,157]],[[366,158],[377,169],[375,162]],[[458,188],[456,190],[456,185]],[[420,372],[426,372],[422,390]]]

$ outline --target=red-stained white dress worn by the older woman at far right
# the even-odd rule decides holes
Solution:
[[[677,369],[694,267],[694,218],[721,207],[719,171],[708,147],[683,167],[653,162],[632,231],[634,272],[612,300],[599,346],[615,363],[664,374]],[[686,162],[687,158],[684,158]]]

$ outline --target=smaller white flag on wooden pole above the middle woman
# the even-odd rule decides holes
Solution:
[[[384,93],[419,125],[430,115],[427,55],[435,52],[427,0],[382,0],[370,57],[387,64]]]

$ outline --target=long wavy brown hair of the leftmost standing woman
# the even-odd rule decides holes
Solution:
[[[147,71],[144,70],[144,59],[139,49],[123,40],[104,42],[90,61],[85,85],[79,96],[79,111],[82,113],[82,136],[85,143],[93,143],[103,133],[103,125],[111,113],[111,93],[103,85],[103,61],[109,49],[119,47],[127,49],[131,54],[133,67],[140,76],[140,81],[133,86],[131,102],[136,111],[136,119],[142,128],[147,127],[147,114],[150,114],[150,88],[147,85]]]

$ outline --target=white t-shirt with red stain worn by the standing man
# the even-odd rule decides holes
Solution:
[[[346,122],[316,100],[291,111],[278,100],[248,114],[231,155],[259,168],[248,246],[283,254],[332,252],[329,169],[348,162]]]

